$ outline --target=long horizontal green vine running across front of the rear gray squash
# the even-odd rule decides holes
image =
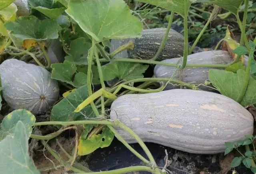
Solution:
[[[154,61],[154,60],[142,60],[142,59],[127,59],[127,58],[114,58],[112,61],[122,61],[122,62],[134,62],[134,63],[147,63],[147,64],[158,64],[158,65],[166,65],[171,67],[178,67],[176,63],[166,63],[162,61]],[[212,67],[212,68],[226,68],[229,65],[219,65],[219,64],[187,64],[186,67]]]

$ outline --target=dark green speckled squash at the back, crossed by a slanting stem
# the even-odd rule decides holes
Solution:
[[[154,57],[163,40],[166,28],[153,28],[142,31],[141,38],[134,41],[132,57],[139,59],[151,59]],[[160,53],[158,61],[183,56],[184,36],[170,29],[164,49]]]

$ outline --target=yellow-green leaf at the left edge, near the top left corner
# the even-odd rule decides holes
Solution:
[[[17,6],[14,3],[12,3],[6,8],[0,10],[0,16],[4,22],[15,21],[17,10],[18,10]],[[0,20],[0,36],[1,35],[8,36],[8,31],[4,27],[4,23],[2,20]]]

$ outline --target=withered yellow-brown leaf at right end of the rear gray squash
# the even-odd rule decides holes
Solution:
[[[236,40],[234,39],[234,34],[232,33],[232,31],[230,31],[229,27],[227,27],[226,36],[222,42],[222,50],[228,51],[228,53],[230,53],[232,58],[235,60],[238,55],[236,53],[233,53],[232,51],[239,46],[240,43],[236,42]],[[244,63],[243,55],[240,56],[240,60],[242,61],[242,63]]]

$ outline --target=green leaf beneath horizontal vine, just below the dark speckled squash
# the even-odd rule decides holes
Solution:
[[[104,80],[112,80],[118,77],[122,80],[143,78],[143,74],[149,65],[131,62],[110,62],[102,66]]]

